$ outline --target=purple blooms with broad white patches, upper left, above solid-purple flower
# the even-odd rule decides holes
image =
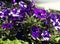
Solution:
[[[17,20],[22,21],[25,18],[25,10],[24,8],[21,9],[13,8],[13,10],[11,10],[11,12],[9,13],[9,16],[11,16],[11,20],[13,21]]]

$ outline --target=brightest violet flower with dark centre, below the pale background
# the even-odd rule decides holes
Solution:
[[[34,9],[34,16],[36,16],[37,18],[46,18],[46,11],[39,9],[39,8],[35,8]]]

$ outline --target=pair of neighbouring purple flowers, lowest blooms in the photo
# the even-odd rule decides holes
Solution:
[[[40,35],[40,28],[39,27],[36,27],[36,26],[32,26],[32,29],[31,29],[31,35],[33,38],[39,38],[40,36],[42,36],[42,39],[43,40],[46,40],[48,41],[49,38],[51,37],[51,34],[47,31],[47,30],[44,30],[41,35]]]

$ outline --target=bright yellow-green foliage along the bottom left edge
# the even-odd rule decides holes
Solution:
[[[28,42],[25,42],[23,40],[18,40],[18,39],[15,39],[15,40],[5,40],[3,41],[2,39],[0,39],[0,44],[29,44]]]

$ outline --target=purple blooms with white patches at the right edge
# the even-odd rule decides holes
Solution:
[[[56,30],[60,29],[60,15],[59,14],[51,14],[51,22],[52,25],[55,27]]]

